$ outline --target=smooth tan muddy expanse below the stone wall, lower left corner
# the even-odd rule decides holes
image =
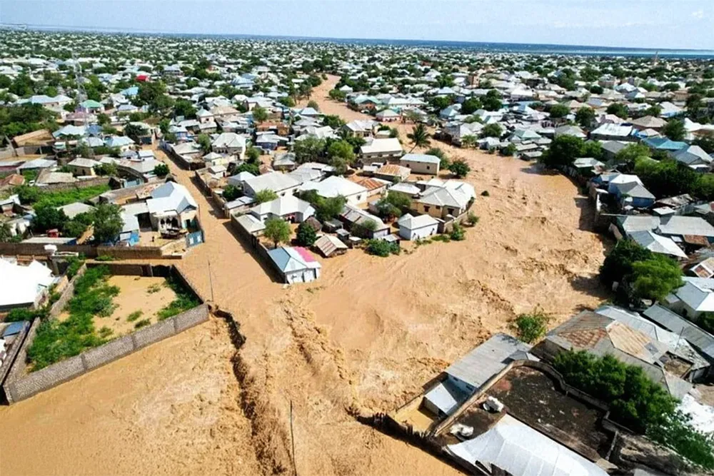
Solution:
[[[202,324],[1,407],[0,474],[258,474],[224,327]]]

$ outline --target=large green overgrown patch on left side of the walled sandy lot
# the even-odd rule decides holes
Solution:
[[[62,322],[56,318],[42,320],[27,350],[31,371],[79,355],[109,340],[106,331],[98,333],[93,322],[94,315],[110,315],[116,308],[112,300],[119,294],[119,288],[107,284],[107,278],[109,268],[106,266],[86,270],[77,278],[74,296],[67,303],[69,318]]]

